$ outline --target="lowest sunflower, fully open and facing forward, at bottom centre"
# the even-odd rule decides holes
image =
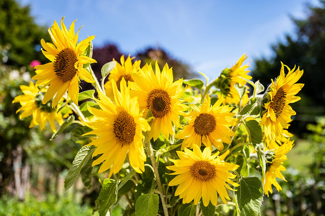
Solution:
[[[173,166],[166,167],[175,171],[172,175],[177,175],[168,185],[178,185],[175,196],[183,198],[183,204],[189,203],[194,199],[194,204],[198,204],[202,197],[203,205],[208,206],[209,201],[216,206],[218,197],[221,197],[224,203],[229,199],[226,188],[233,190],[227,183],[233,186],[239,184],[231,181],[236,175],[228,171],[236,170],[239,166],[233,163],[223,162],[229,154],[227,150],[223,155],[217,152],[211,155],[210,147],[204,148],[201,152],[199,146],[194,145],[193,151],[185,148],[185,152],[177,151],[180,159],[169,159],[174,162]]]

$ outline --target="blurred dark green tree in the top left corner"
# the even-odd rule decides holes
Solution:
[[[50,36],[45,27],[38,26],[31,16],[29,6],[20,6],[14,0],[0,1],[0,45],[10,44],[8,56],[3,60],[12,66],[28,66],[38,59],[48,62],[41,52],[42,38],[50,42]]]

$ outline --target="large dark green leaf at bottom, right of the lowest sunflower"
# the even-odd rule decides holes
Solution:
[[[235,187],[237,216],[261,215],[263,185],[257,177],[242,178],[240,186]]]

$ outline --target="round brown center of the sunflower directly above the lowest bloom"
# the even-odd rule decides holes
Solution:
[[[194,121],[195,133],[207,135],[215,129],[215,118],[208,113],[201,113]]]

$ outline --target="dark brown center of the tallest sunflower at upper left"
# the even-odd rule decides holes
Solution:
[[[63,82],[71,81],[77,72],[74,64],[78,61],[76,54],[70,48],[62,49],[53,63],[55,75]]]

